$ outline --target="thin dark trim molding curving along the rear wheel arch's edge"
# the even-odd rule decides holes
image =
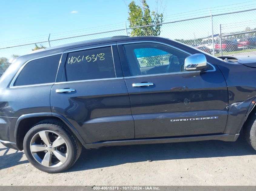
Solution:
[[[72,131],[72,133],[74,133],[74,135],[78,138],[78,140],[82,143],[85,144],[85,141],[83,140],[83,138],[80,136],[80,134],[77,132],[77,130],[71,125],[71,123],[69,123],[69,121],[62,115],[60,115],[59,113],[51,113],[51,112],[42,112],[42,113],[28,113],[28,114],[24,114],[22,116],[20,116],[16,122],[15,125],[15,131],[14,131],[14,138],[15,138],[15,143],[17,143],[17,132],[18,132],[18,126],[19,123],[26,118],[31,118],[31,117],[57,117],[58,119],[62,120],[63,123],[66,124],[66,126],[68,126],[68,128]]]

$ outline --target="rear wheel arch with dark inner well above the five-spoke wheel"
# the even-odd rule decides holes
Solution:
[[[85,141],[81,137],[81,135],[78,133],[78,131],[72,126],[72,124],[62,115],[58,113],[51,113],[51,112],[45,112],[45,113],[28,113],[20,116],[16,122],[15,125],[15,131],[14,131],[14,139],[15,144],[17,145],[17,148],[19,150],[23,150],[23,140],[28,132],[28,130],[35,125],[36,123],[44,120],[44,119],[58,119],[61,120],[68,129],[71,130],[71,132],[78,138],[78,140],[81,142],[81,144],[85,144]]]

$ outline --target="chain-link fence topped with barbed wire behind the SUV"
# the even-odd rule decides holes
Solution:
[[[211,14],[209,12],[206,16],[197,18],[181,17],[179,20],[176,19],[157,25],[127,28],[125,24],[113,24],[108,27],[108,31],[102,31],[102,28],[98,27],[94,29],[96,31],[94,33],[87,30],[89,33],[86,34],[85,32],[85,34],[79,36],[68,37],[69,33],[66,33],[66,37],[58,38],[58,33],[56,33],[54,39],[48,35],[42,36],[41,39],[45,38],[45,41],[37,41],[36,38],[27,39],[26,42],[28,43],[26,44],[19,44],[20,42],[16,41],[15,43],[18,45],[0,48],[0,76],[9,66],[8,59],[31,52],[35,44],[50,47],[112,36],[152,35],[152,29],[155,28],[156,30],[160,28],[160,37],[177,40],[214,56],[256,55],[255,18],[256,9],[224,14]],[[134,33],[135,30],[136,33]],[[141,64],[149,62],[148,59],[141,61]],[[165,62],[165,59],[157,58],[157,61],[159,63],[160,61]]]

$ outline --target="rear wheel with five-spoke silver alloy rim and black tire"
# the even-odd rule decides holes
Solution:
[[[81,154],[81,143],[58,120],[35,124],[25,135],[23,148],[28,161],[39,170],[59,173],[70,168]]]

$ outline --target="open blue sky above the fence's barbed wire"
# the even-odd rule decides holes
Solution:
[[[136,0],[135,0],[136,1]],[[165,0],[165,15],[187,12],[203,8],[231,5],[241,0]],[[115,24],[122,27],[127,21],[127,6],[130,0],[0,0],[1,29],[0,42],[37,37],[46,38],[49,33],[90,29],[91,27]],[[251,4],[256,3],[250,2]],[[249,4],[250,4],[249,3]],[[154,9],[155,0],[148,0],[150,8]],[[74,12],[72,12],[74,11]],[[207,10],[206,10],[207,11]],[[106,27],[105,27],[106,28]],[[93,30],[93,28],[91,29]],[[96,28],[95,28],[96,30]],[[55,34],[56,36],[58,34]],[[69,35],[67,33],[66,35]],[[70,33],[72,35],[72,33]]]

